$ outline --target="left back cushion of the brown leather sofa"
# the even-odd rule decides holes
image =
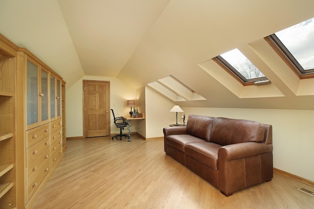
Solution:
[[[189,135],[209,141],[209,134],[214,117],[189,115],[186,129]]]

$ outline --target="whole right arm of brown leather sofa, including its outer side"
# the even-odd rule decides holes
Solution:
[[[273,178],[273,145],[230,144],[218,150],[218,184],[226,196]]]

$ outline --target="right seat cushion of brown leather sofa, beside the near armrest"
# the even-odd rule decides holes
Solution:
[[[188,155],[214,170],[218,170],[218,150],[222,145],[202,142],[186,144],[184,148],[185,155]]]

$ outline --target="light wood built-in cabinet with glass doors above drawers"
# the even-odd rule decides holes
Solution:
[[[62,78],[26,48],[18,48],[17,75],[17,205],[30,208],[63,157]]]

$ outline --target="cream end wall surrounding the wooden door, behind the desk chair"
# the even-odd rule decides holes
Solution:
[[[113,77],[84,76],[66,91],[66,135],[67,137],[83,136],[83,80],[110,81],[110,108],[115,116],[127,116],[130,107],[128,99],[136,99],[136,90],[121,80]],[[119,129],[113,123],[110,112],[110,132],[119,133]],[[134,125],[135,124],[135,125]],[[135,131],[136,122],[131,121],[131,131]],[[127,129],[124,130],[128,132]]]

